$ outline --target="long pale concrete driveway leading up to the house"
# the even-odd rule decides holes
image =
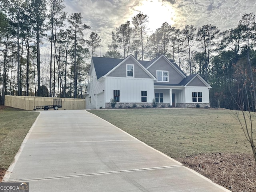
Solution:
[[[4,182],[30,192],[228,192],[86,110],[41,111]]]

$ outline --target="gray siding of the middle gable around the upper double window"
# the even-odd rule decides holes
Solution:
[[[148,68],[148,70],[155,77],[156,70],[169,71],[169,82],[166,82],[166,84],[179,84],[179,82],[184,79],[184,77],[179,74],[166,60],[164,60],[164,58],[160,58],[155,64]],[[156,80],[154,82],[156,82]]]

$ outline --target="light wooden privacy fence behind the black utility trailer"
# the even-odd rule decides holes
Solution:
[[[33,110],[35,106],[53,105],[53,97],[30,97],[6,95],[4,105],[25,110]],[[61,98],[62,108],[58,110],[85,109],[85,99]],[[51,109],[53,110],[53,109]]]

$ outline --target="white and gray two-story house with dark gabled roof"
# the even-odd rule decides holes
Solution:
[[[86,94],[86,108],[152,106],[210,106],[211,86],[199,75],[186,76],[173,60],[161,55],[151,61],[92,57]]]

